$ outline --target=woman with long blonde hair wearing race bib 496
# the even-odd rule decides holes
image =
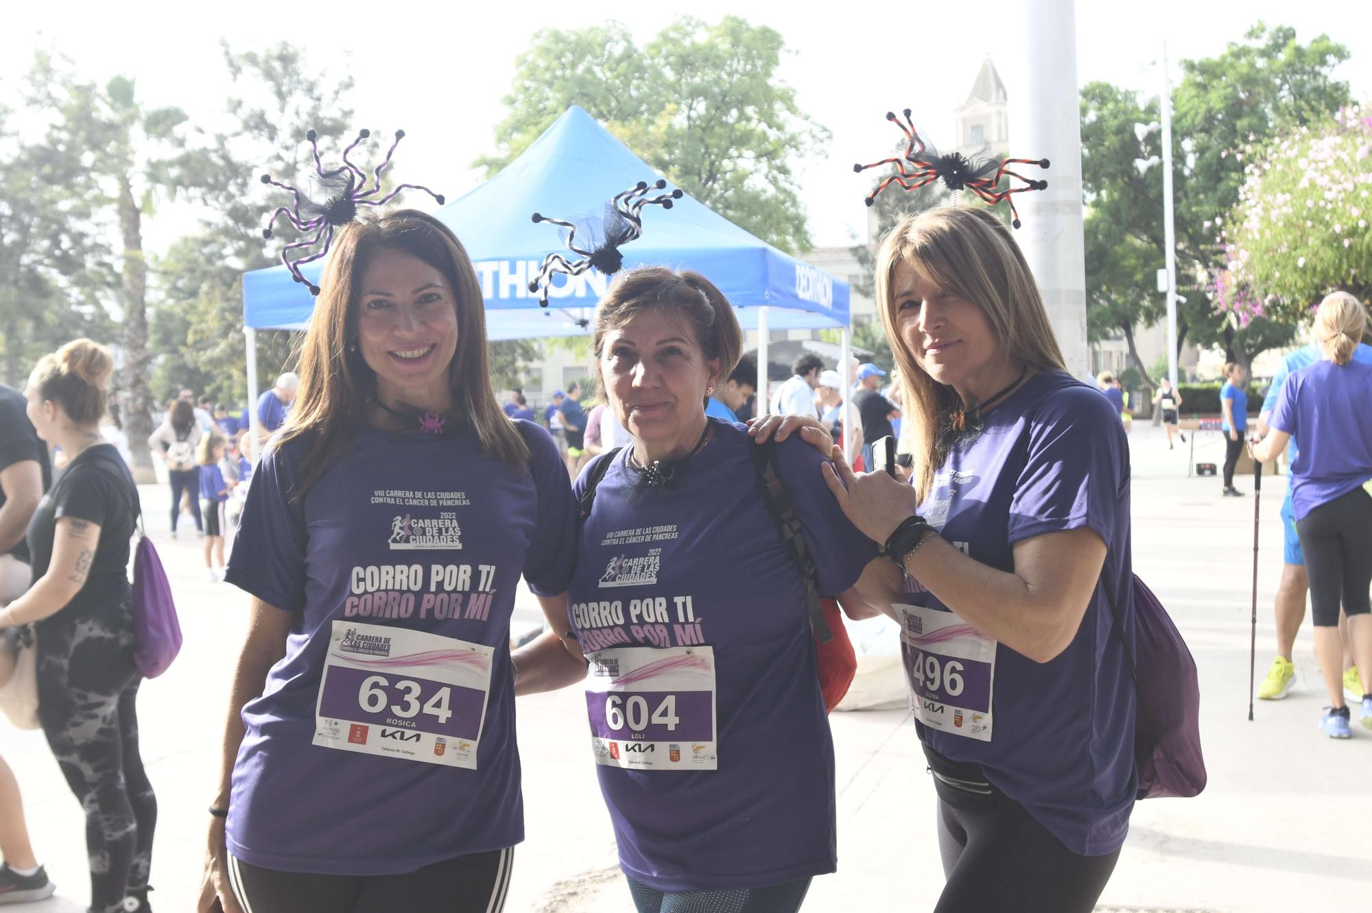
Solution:
[[[901,221],[875,278],[911,484],[855,476],[837,447],[837,473],[822,472],[893,562],[886,609],[938,794],[936,913],[1088,913],[1137,788],[1124,428],[1063,370],[1033,276],[991,212]],[[805,439],[829,447],[814,422],[757,436],[778,425],[778,437],[809,425]]]

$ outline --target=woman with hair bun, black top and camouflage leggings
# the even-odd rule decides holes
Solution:
[[[139,754],[129,537],[139,492],[100,433],[114,359],[88,339],[44,355],[25,389],[38,437],[67,467],[29,522],[33,584],[0,629],[38,633],[38,720],[86,818],[91,910],[148,909],[158,805]],[[0,898],[3,901],[3,898]]]

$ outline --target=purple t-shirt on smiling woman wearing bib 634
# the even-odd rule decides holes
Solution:
[[[233,855],[287,872],[399,875],[524,839],[510,611],[520,574],[539,592],[565,591],[576,504],[547,432],[520,430],[527,469],[484,456],[469,430],[365,428],[303,500],[294,491],[309,443],[262,458],[225,579],[294,620],[285,657],[243,709]],[[494,650],[476,769],[313,744],[336,620]]]

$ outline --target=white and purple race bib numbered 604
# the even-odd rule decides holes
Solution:
[[[613,647],[587,655],[595,764],[715,770],[715,648]]]

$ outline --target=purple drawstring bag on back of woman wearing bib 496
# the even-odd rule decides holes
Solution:
[[[1120,631],[1122,620],[1109,588],[1106,595]],[[1137,657],[1129,655],[1128,644],[1124,655],[1137,694],[1133,735],[1137,798],[1199,795],[1205,790],[1206,772],[1195,659],[1168,610],[1137,574],[1133,574],[1133,617]]]

